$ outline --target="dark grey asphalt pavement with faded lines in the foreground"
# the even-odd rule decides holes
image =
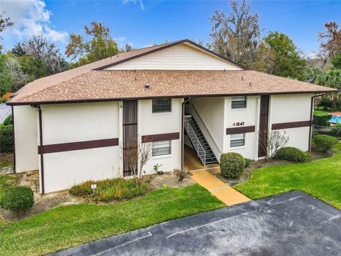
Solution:
[[[341,211],[293,191],[141,228],[55,255],[341,255]]]

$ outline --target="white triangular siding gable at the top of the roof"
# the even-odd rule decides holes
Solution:
[[[107,70],[241,70],[202,50],[180,44],[113,65]]]

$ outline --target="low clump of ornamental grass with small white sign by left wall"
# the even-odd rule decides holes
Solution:
[[[91,185],[97,188],[92,191]],[[135,179],[107,178],[103,181],[86,181],[72,186],[70,194],[75,196],[90,196],[94,201],[110,202],[126,198],[134,198],[146,193],[148,185],[136,182]]]

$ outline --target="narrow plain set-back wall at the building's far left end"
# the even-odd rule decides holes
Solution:
[[[14,106],[16,172],[38,169],[37,110],[31,106]]]

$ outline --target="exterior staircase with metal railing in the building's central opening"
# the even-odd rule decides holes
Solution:
[[[217,163],[218,161],[215,154],[191,114],[185,115],[184,127],[193,148],[197,152],[197,157],[200,159],[202,164],[205,166],[206,164]]]

